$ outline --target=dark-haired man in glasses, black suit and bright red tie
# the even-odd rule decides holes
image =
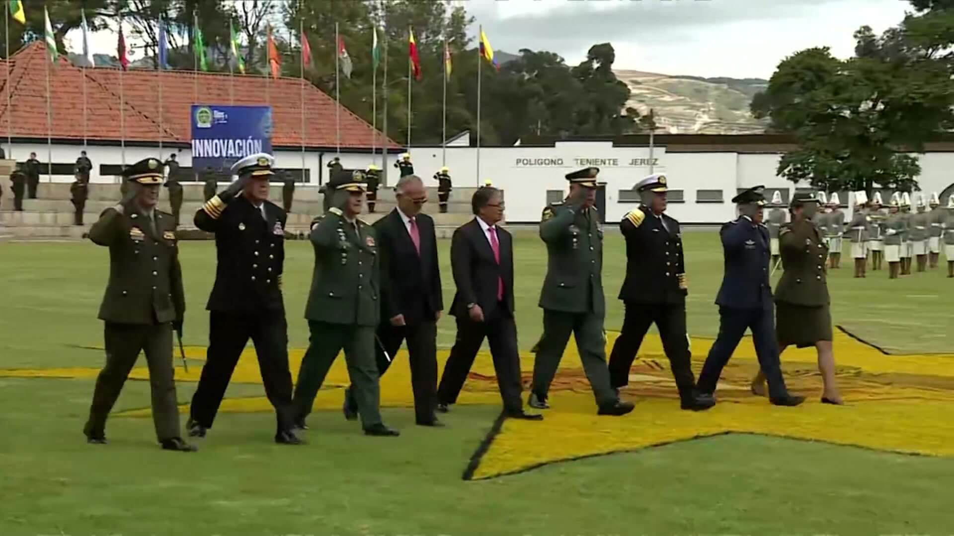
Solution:
[[[457,293],[450,314],[457,319],[457,340],[450,349],[437,388],[438,410],[457,402],[467,373],[484,339],[497,375],[504,413],[515,419],[540,421],[528,415],[520,397],[520,356],[513,320],[513,238],[497,223],[504,218],[500,191],[483,187],[470,200],[474,217],[454,231],[450,265]]]

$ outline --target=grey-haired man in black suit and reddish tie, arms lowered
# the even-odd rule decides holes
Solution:
[[[434,408],[437,403],[437,320],[444,310],[444,299],[434,220],[421,214],[427,191],[419,176],[401,177],[395,193],[398,206],[374,223],[381,261],[378,372],[384,375],[406,340],[415,421],[423,426],[440,426]],[[356,417],[355,408],[349,388],[344,398],[344,415],[348,420]]]

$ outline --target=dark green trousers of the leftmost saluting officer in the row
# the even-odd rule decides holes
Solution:
[[[176,381],[173,370],[173,328],[161,324],[121,324],[106,322],[106,366],[96,378],[88,427],[102,432],[106,418],[123,384],[133,370],[139,352],[146,353],[149,385],[153,394],[153,423],[159,441],[180,437]]]

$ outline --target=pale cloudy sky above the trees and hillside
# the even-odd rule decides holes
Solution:
[[[910,9],[905,0],[451,1],[484,25],[498,51],[557,52],[575,64],[609,41],[621,69],[736,78],[768,78],[782,58],[809,47],[848,57],[861,25],[880,32]],[[81,50],[79,31],[68,40]],[[93,52],[115,53],[113,32],[92,41]]]

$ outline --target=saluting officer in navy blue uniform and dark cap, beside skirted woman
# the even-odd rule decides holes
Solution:
[[[762,186],[732,199],[738,219],[722,226],[719,236],[725,256],[725,274],[716,296],[719,306],[718,337],[699,374],[698,389],[716,392],[722,367],[736,351],[746,329],[752,330],[758,364],[769,382],[769,398],[776,405],[798,405],[803,397],[788,394],[778,362],[773,321],[772,287],[769,284],[769,230],[762,224]]]

